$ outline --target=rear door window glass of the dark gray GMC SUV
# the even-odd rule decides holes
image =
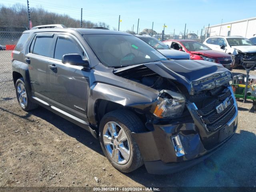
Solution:
[[[33,54],[51,57],[53,37],[36,37]]]

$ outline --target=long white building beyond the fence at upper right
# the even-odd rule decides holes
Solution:
[[[228,22],[218,25],[212,25],[205,28],[206,36],[243,36],[251,38],[256,34],[256,17]]]

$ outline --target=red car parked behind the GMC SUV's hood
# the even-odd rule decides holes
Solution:
[[[208,46],[195,40],[166,40],[164,41],[170,48],[185,51],[190,54],[190,59],[206,60],[222,64],[225,68],[232,70],[233,62],[229,54],[214,51]]]

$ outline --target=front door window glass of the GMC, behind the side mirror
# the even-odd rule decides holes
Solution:
[[[62,60],[64,54],[80,54],[84,57],[84,52],[78,44],[69,39],[58,37],[55,46],[54,59]]]

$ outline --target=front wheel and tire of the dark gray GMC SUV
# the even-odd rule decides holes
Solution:
[[[140,118],[128,110],[107,113],[100,121],[100,145],[112,166],[132,172],[143,165],[142,156],[131,132],[144,132]]]

